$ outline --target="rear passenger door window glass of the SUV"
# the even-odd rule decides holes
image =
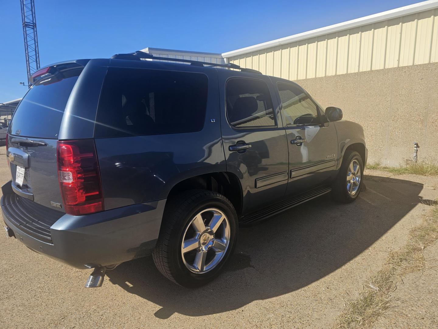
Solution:
[[[271,94],[266,82],[233,78],[226,83],[226,113],[233,127],[276,125]]]

